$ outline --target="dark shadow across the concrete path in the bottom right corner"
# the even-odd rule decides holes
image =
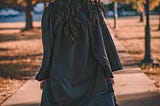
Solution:
[[[144,92],[117,96],[120,106],[160,106],[160,94]]]

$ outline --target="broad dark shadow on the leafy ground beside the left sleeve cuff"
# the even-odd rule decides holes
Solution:
[[[26,80],[35,75],[39,68],[42,54],[31,54],[27,56],[0,56],[0,77]],[[15,61],[15,62],[14,62]]]

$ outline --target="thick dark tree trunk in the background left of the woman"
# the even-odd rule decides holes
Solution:
[[[32,0],[26,0],[26,26],[25,30],[30,30],[33,28],[33,11],[32,11]]]

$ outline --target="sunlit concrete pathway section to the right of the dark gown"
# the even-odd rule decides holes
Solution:
[[[115,94],[120,106],[160,106],[160,93],[149,78],[135,65],[124,46],[114,36],[122,71],[115,75]]]

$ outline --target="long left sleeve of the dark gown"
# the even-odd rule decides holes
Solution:
[[[52,46],[53,46],[53,30],[49,15],[49,9],[44,10],[41,27],[42,27],[42,44],[43,44],[43,59],[42,65],[39,69],[36,79],[38,81],[46,79],[49,74],[51,56],[52,56]]]

